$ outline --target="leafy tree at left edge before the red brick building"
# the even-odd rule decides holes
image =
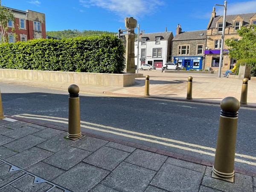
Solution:
[[[3,35],[1,36],[1,41],[0,41],[1,43],[8,42],[9,37],[7,33],[7,30],[8,30],[7,24],[9,20],[12,20],[12,22],[14,23],[14,15],[9,9],[0,5],[0,31],[3,33]],[[12,27],[12,31],[14,31],[14,29],[15,28]]]

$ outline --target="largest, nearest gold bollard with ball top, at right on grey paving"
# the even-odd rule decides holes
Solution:
[[[222,110],[214,166],[212,167],[212,177],[232,183],[235,175],[234,163],[239,108],[239,100],[235,97],[225,97],[221,101]]]

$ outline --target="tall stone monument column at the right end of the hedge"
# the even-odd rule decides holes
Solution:
[[[133,17],[125,17],[125,28],[134,29],[137,26],[137,20]],[[125,58],[125,72],[135,73],[135,60],[134,60],[134,30],[130,31],[130,35],[125,35],[126,38],[126,58]]]

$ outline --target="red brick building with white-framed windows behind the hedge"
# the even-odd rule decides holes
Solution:
[[[46,38],[44,13],[34,12],[31,10],[21,11],[8,7],[6,7],[6,9],[9,9],[15,17],[14,22],[9,20],[7,24],[9,43]],[[13,28],[14,31],[12,30]],[[0,35],[3,35],[1,31]]]

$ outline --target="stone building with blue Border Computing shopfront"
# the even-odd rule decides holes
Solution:
[[[172,62],[178,61],[186,70],[202,70],[205,47],[206,30],[182,32],[178,24],[176,35],[172,39]]]

